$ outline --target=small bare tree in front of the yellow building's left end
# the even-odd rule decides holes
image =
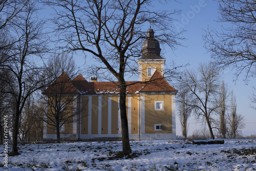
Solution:
[[[69,75],[74,77],[77,71],[73,56],[62,51],[49,57],[46,84],[52,84],[47,89],[42,89],[42,94],[39,94],[39,104],[46,104],[47,110],[45,106],[39,105],[38,109],[43,115],[38,117],[46,122],[50,129],[56,130],[57,142],[60,142],[61,127],[77,120],[79,111],[74,101],[79,96],[69,78]]]

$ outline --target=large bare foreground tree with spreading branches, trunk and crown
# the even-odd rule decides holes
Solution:
[[[157,10],[153,6],[154,2],[47,1],[57,14],[54,21],[59,39],[67,42],[71,51],[93,55],[99,61],[95,72],[109,71],[118,80],[123,155],[131,153],[125,104],[125,74],[135,71],[131,63],[140,56],[139,47],[146,38],[145,26],[153,23],[155,28],[161,30],[157,37],[160,42],[165,42],[172,48],[180,45],[180,33],[170,30],[172,17],[179,11]]]

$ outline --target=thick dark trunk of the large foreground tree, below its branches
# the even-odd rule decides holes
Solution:
[[[119,81],[120,82],[120,81]],[[121,126],[122,126],[122,145],[123,145],[123,155],[129,155],[132,153],[129,140],[129,127],[126,115],[126,84],[125,82],[120,83],[120,116],[121,116]]]

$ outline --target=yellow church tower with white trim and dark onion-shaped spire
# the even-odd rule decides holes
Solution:
[[[150,27],[147,30],[147,38],[142,45],[142,57],[137,60],[139,66],[139,81],[148,81],[158,70],[164,74],[165,58],[160,56],[158,40],[154,38],[154,30]]]

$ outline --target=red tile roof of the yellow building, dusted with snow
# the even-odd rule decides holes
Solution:
[[[60,82],[60,79],[65,78],[67,82],[65,87],[70,88],[69,93],[80,93],[80,94],[118,94],[119,87],[118,82],[88,82],[81,75],[78,75],[72,81],[69,79],[68,75],[62,73],[61,76],[55,81]],[[127,94],[135,94],[139,92],[177,92],[169,83],[163,78],[163,76],[156,71],[150,81],[140,82],[140,81],[127,81]],[[55,83],[56,84],[56,83]],[[52,84],[44,93],[50,93],[50,91],[56,91],[55,84]],[[67,89],[68,90],[68,89]],[[66,91],[63,93],[67,93]]]

